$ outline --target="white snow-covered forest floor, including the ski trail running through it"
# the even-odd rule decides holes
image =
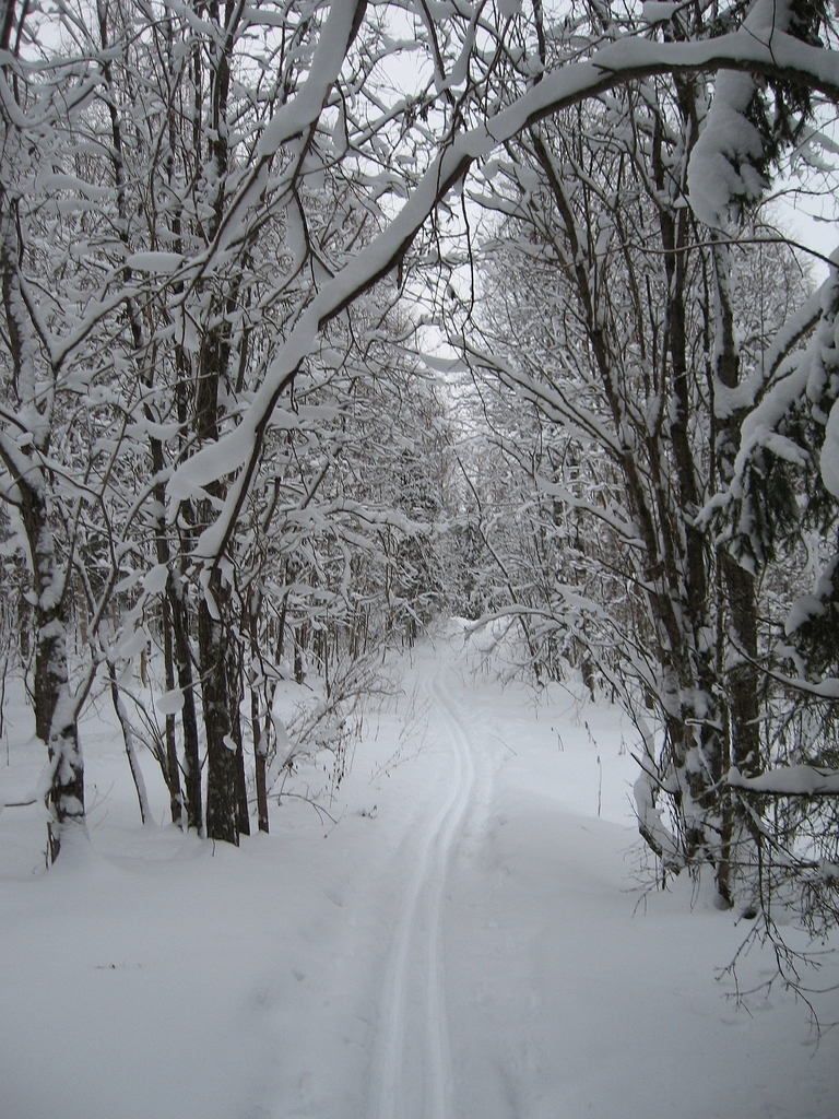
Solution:
[[[106,706],[89,847],[47,874],[40,811],[0,816],[0,1119],[839,1117],[839,1027],[817,1044],[780,986],[738,1008],[716,976],[746,924],[644,891],[620,712],[537,706],[458,641],[404,667],[337,824],[274,805],[238,850],[142,828]],[[7,714],[11,801],[43,758]],[[752,951],[742,986],[772,968]]]

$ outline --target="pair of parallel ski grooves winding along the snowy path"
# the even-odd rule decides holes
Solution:
[[[445,686],[450,671],[441,668],[428,687],[454,765],[447,794],[417,845],[389,953],[374,1075],[378,1090],[370,1110],[377,1119],[447,1119],[452,1113],[442,915],[449,864],[473,800],[475,770],[472,743]],[[414,1022],[420,1027],[416,1044],[409,1028]],[[415,1083],[420,1091],[413,1090]]]

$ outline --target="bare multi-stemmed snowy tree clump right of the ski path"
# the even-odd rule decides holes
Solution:
[[[764,17],[755,8],[748,27]],[[816,22],[791,16],[802,38]],[[474,191],[501,215],[486,248],[488,310],[452,340],[521,402],[518,430],[496,407],[494,441],[531,480],[524,520],[545,543],[527,555],[522,525],[503,566],[550,574],[545,586],[511,585],[508,609],[528,619],[541,660],[556,633],[566,655],[582,642],[638,718],[639,822],[666,865],[711,862],[720,899],[750,908],[765,884],[762,825],[730,782],[748,787],[790,760],[762,734],[776,713],[765,674],[782,652],[777,615],[774,632],[758,629],[762,586],[777,584],[772,563],[782,539],[795,551],[805,508],[788,467],[807,454],[774,434],[757,458],[756,443],[741,451],[747,492],[734,460],[763,378],[794,360],[816,302],[777,231],[745,209],[781,141],[805,128],[805,93],[773,91],[776,134],[764,143],[766,92],[724,78],[713,101],[692,77],[630,85],[522,132],[489,162]],[[720,508],[736,509],[725,526]],[[800,587],[798,556],[784,564]],[[660,751],[644,706],[658,712]],[[835,859],[835,830],[826,835],[820,857]],[[784,841],[794,845],[791,829]]]

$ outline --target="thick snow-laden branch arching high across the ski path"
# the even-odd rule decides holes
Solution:
[[[329,29],[336,10],[324,28],[324,35],[328,31],[336,35],[334,41],[338,30]],[[336,20],[336,28],[340,25],[341,34],[346,34],[343,23],[337,17]],[[332,46],[327,44],[324,50],[327,47],[331,50]],[[333,64],[332,55],[329,57]],[[393,222],[314,295],[270,365],[236,431],[202,448],[170,480],[168,492],[177,501],[238,471],[215,525],[202,534],[198,554],[217,562],[225,551],[254,477],[271,414],[304,359],[315,349],[320,330],[393,271],[437,204],[474,161],[544,117],[631,79],[720,67],[784,81],[798,78],[839,100],[839,54],[808,46],[788,35],[748,29],[698,43],[656,43],[628,36],[601,48],[586,62],[560,65],[546,73],[511,105],[447,142]],[[265,141],[262,154],[272,150],[274,140],[287,133],[287,129],[283,131],[279,125],[277,130],[271,133],[271,141]]]

